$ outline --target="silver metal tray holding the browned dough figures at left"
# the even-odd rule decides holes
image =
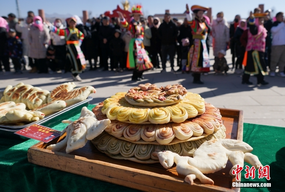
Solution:
[[[80,108],[79,110],[81,110],[81,108],[83,106],[88,106],[89,102],[92,101],[93,98],[92,97],[87,97],[87,99],[85,99],[84,101],[81,101],[81,102],[78,102],[78,103],[75,103],[71,106],[68,106],[56,113],[53,113],[53,114],[50,114],[42,119],[40,119],[39,121],[34,121],[32,123],[29,123],[29,124],[26,124],[26,125],[4,125],[4,124],[0,124],[0,130],[3,130],[3,131],[10,131],[10,132],[16,132],[20,129],[23,129],[25,127],[28,127],[29,125],[32,125],[32,124],[39,124],[39,125],[43,125],[45,124],[45,126],[54,126],[55,124],[58,124],[61,120],[63,120],[61,116],[63,113],[66,113],[70,110],[73,110],[75,108]],[[78,110],[75,110],[76,114],[78,113]],[[79,111],[80,112],[80,111]],[[70,113],[69,113],[70,115]],[[58,117],[58,118],[57,118]],[[48,122],[49,120],[51,119],[54,119],[54,118],[57,118],[56,121],[53,121],[53,122]]]

